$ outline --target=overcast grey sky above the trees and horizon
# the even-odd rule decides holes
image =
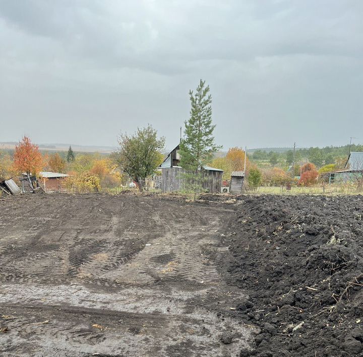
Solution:
[[[200,78],[224,149],[363,142],[363,1],[0,0],[0,141],[171,148]]]

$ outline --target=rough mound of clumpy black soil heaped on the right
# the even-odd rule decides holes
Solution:
[[[240,355],[363,355],[363,198],[259,196],[238,207],[227,279],[249,294],[235,312],[261,329]]]

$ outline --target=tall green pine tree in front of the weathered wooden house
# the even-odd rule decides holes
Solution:
[[[185,122],[185,139],[180,143],[180,166],[198,174],[213,153],[221,148],[214,144],[212,125],[212,96],[209,85],[200,80],[196,93],[189,91],[191,101],[190,119]]]

